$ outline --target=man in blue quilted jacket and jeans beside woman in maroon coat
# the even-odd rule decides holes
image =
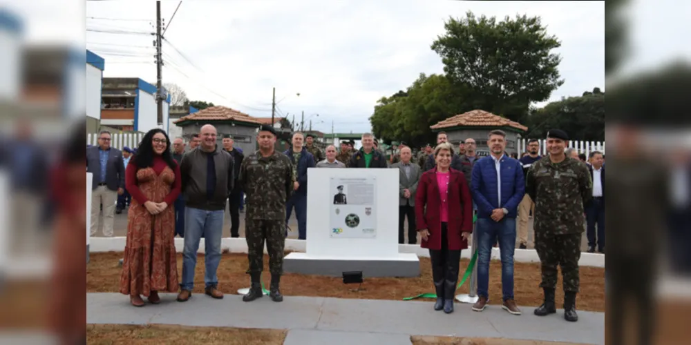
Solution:
[[[520,162],[504,155],[507,135],[502,130],[489,132],[491,155],[475,163],[471,193],[477,204],[477,303],[473,311],[484,311],[489,302],[489,260],[492,246],[499,239],[502,259],[502,308],[520,315],[513,298],[513,252],[516,242],[518,204],[525,193]]]

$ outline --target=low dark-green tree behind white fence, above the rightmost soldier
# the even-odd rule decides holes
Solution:
[[[559,128],[574,140],[605,141],[605,94],[600,88],[551,102],[537,109],[525,123],[528,138],[544,138],[547,131]]]

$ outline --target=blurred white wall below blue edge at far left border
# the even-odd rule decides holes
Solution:
[[[0,99],[19,97],[21,46],[17,33],[0,29]]]

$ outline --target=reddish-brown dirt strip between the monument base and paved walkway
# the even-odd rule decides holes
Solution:
[[[91,262],[86,266],[87,293],[117,293],[120,288],[122,268],[118,260],[122,253],[92,253]],[[268,268],[268,257],[264,258],[264,267]],[[468,266],[468,260],[462,260],[461,273]],[[352,286],[343,285],[338,277],[317,275],[286,274],[281,279],[281,292],[286,296],[338,297],[353,299],[393,299],[416,296],[421,293],[433,293],[432,272],[428,258],[420,258],[422,275],[417,278],[366,278],[359,291]],[[224,254],[218,267],[218,288],[226,294],[236,294],[240,288],[249,286],[247,255]],[[178,273],[182,271],[182,255],[178,254]],[[515,298],[520,306],[540,306],[542,289],[540,289],[539,264],[515,264]],[[270,278],[265,275],[263,281],[268,288]],[[193,293],[204,293],[204,255],[199,255]],[[468,293],[468,284],[462,286],[458,293]],[[581,292],[578,295],[578,309],[582,311],[605,311],[605,270],[603,268],[580,268]],[[490,304],[502,304],[501,264],[492,262],[490,267],[489,293]],[[123,298],[127,298],[123,296]],[[557,287],[557,302],[561,305],[563,292],[561,283]]]

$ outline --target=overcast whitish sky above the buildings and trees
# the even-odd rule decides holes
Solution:
[[[79,37],[75,32],[84,32],[85,26],[153,31],[154,1],[87,1],[86,9],[83,1],[68,3],[12,1],[9,6],[29,19],[32,41],[74,43]],[[163,1],[167,22],[176,6],[178,1]],[[669,9],[665,16],[651,16],[663,8]],[[595,86],[604,88],[603,1],[187,0],[165,34],[171,44],[164,43],[168,65],[163,77],[182,86],[190,99],[257,117],[271,115],[275,86],[277,100],[283,99],[278,106],[281,114],[292,118],[302,110],[305,117],[319,113],[311,117],[324,121],[314,124],[316,129],[330,132],[334,121],[337,132],[361,132],[370,128],[367,119],[377,99],[404,90],[420,72],[442,72],[430,43],[444,32],[445,19],[462,17],[467,10],[500,18],[542,17],[549,34],[562,41],[556,52],[562,57],[559,68],[565,83],[553,92],[551,101]],[[634,50],[627,70],[648,68],[669,55],[690,57],[691,45],[679,45],[679,39],[671,36],[681,38],[685,37],[681,32],[691,32],[691,24],[683,18],[689,10],[688,3],[672,6],[671,0],[634,0],[630,10]],[[70,16],[75,20],[66,21]],[[86,24],[79,17],[87,17]],[[661,37],[661,29],[670,33]],[[106,77],[142,77],[154,83],[152,39],[142,34],[87,32],[82,43],[106,58]],[[301,96],[296,97],[296,92]]]

